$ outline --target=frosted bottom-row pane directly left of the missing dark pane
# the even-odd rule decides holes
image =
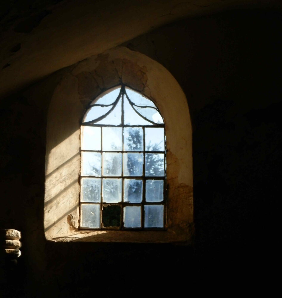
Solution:
[[[100,228],[100,204],[81,204],[81,224],[84,228]]]

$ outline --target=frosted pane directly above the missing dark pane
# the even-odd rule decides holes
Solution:
[[[118,203],[121,202],[122,179],[103,179],[103,202]]]

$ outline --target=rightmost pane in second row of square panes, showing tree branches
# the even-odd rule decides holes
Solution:
[[[145,154],[145,176],[165,176],[165,154]]]

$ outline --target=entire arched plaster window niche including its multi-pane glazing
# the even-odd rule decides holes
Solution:
[[[47,240],[189,244],[192,177],[188,104],[167,69],[117,47],[61,71],[47,117]]]

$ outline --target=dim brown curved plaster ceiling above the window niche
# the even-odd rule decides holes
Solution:
[[[1,4],[0,96],[188,16],[276,0],[14,0]]]

